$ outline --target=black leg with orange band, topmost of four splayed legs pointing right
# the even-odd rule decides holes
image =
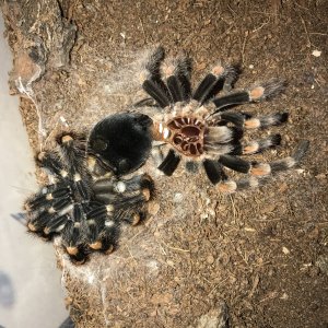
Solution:
[[[222,97],[216,97],[212,101],[216,107],[214,113],[225,110],[231,106],[269,99],[280,94],[284,87],[284,81],[272,79],[268,82],[255,85],[249,90],[234,92]]]

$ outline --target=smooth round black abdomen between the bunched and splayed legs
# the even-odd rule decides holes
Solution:
[[[89,152],[116,175],[131,173],[144,164],[152,147],[152,120],[147,115],[114,114],[91,131]]]

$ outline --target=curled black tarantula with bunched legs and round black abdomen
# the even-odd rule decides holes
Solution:
[[[117,247],[121,224],[142,221],[145,203],[154,191],[147,174],[121,177],[143,161],[133,152],[127,156],[126,148],[133,143],[143,150],[151,147],[143,136],[150,127],[149,118],[125,114],[112,122],[109,133],[129,129],[113,147],[95,139],[94,130],[89,140],[85,133],[63,131],[56,137],[54,149],[36,156],[49,184],[25,202],[27,229],[46,241],[61,235],[65,250],[77,265],[85,262],[91,251],[112,253]],[[102,130],[102,124],[96,127]],[[110,152],[112,162],[103,161],[95,149]]]

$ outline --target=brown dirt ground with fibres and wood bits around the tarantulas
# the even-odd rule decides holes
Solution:
[[[203,174],[159,175],[145,224],[83,267],[58,257],[77,327],[328,327],[328,2],[2,1],[31,145],[54,127],[91,127],[142,98],[139,58],[161,44],[186,50],[195,78],[218,59],[238,63],[236,87],[271,77],[286,92],[249,105],[288,110],[283,157],[311,141],[300,168],[223,196]],[[245,109],[243,107],[243,109]],[[221,323],[220,323],[221,320]]]

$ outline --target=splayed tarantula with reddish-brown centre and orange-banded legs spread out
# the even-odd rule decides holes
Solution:
[[[231,109],[242,104],[271,99],[284,90],[284,81],[271,79],[247,90],[234,91],[237,69],[218,63],[192,91],[190,75],[191,61],[188,57],[165,60],[164,49],[159,47],[149,57],[140,77],[143,90],[151,96],[134,105],[140,113],[143,112],[152,119],[151,129],[143,134],[144,140],[171,147],[159,163],[160,171],[171,176],[184,160],[186,169],[195,172],[201,163],[209,180],[220,191],[234,192],[262,185],[271,174],[298,164],[308,148],[307,141],[301,142],[293,155],[271,163],[241,157],[279,145],[280,134],[271,134],[248,143],[243,141],[243,134],[245,131],[282,125],[288,120],[288,113],[254,117],[248,113]],[[221,91],[224,94],[216,96]],[[117,115],[103,119],[99,122],[103,131],[109,130],[116,119]],[[103,133],[97,126],[95,130],[104,144],[117,140],[115,136]],[[142,154],[141,161],[150,155],[150,149],[142,144],[133,151]],[[127,154],[126,163],[130,163],[129,152],[131,150],[128,149],[124,152]],[[153,149],[153,153],[161,159],[157,148]],[[102,156],[108,163],[113,162],[109,153],[102,153]],[[233,180],[227,177],[224,167],[248,176]]]

